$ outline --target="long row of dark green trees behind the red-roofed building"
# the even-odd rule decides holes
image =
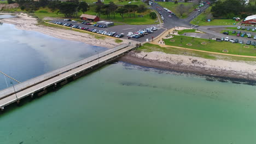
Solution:
[[[145,5],[136,5],[136,4],[126,4],[123,6],[118,6],[113,2],[104,4],[100,0],[96,4],[89,5],[86,2],[79,2],[79,0],[72,0],[61,2],[59,0],[49,1],[49,0],[16,0],[16,3],[20,5],[21,10],[26,11],[36,11],[40,7],[48,7],[51,11],[57,11],[57,14],[63,14],[65,17],[74,17],[77,16],[79,11],[85,13],[89,9],[95,11],[97,16],[106,15],[107,18],[114,19],[115,14],[119,14],[124,20],[124,14],[129,14],[129,17],[135,17],[135,13],[143,13],[147,10]],[[8,3],[14,3],[13,0],[8,0]]]

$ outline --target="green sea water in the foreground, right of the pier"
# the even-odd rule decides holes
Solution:
[[[115,63],[0,116],[0,143],[255,143],[256,88]]]

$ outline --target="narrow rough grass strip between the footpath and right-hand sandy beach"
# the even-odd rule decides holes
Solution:
[[[139,51],[144,51],[144,52],[160,51],[168,54],[202,57],[207,59],[223,59],[228,61],[256,61],[256,58],[224,56],[224,55],[217,55],[217,54],[200,52],[200,51],[176,49],[173,47],[161,47],[159,45],[148,44],[148,43],[143,44],[141,47],[136,48],[136,51],[138,52]]]

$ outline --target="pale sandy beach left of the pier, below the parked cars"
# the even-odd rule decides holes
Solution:
[[[7,13],[0,13],[7,14]],[[114,46],[128,43],[126,40],[123,40],[121,43],[115,43],[115,39],[106,37],[105,39],[96,39],[94,35],[88,33],[80,33],[76,31],[72,31],[69,29],[60,29],[54,27],[46,27],[37,25],[37,19],[27,14],[14,14],[15,18],[1,19],[0,22],[10,23],[16,26],[18,29],[26,30],[26,31],[37,31],[40,33],[44,33],[47,35],[51,35],[56,38],[66,39],[66,40],[74,40],[81,41],[86,44],[102,46],[107,48],[112,48]]]

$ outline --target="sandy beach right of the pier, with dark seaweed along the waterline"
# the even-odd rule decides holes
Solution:
[[[120,61],[132,64],[168,69],[174,71],[196,73],[202,75],[231,77],[237,79],[256,80],[255,62],[231,62],[205,59],[193,56],[166,54],[164,52],[130,52]]]

